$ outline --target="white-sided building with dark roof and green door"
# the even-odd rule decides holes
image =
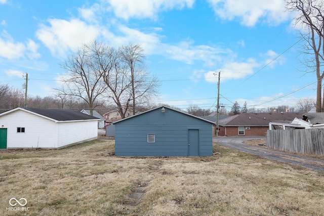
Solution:
[[[74,110],[18,107],[0,114],[0,148],[63,148],[97,139],[97,126]]]

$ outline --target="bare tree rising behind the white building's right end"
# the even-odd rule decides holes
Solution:
[[[102,82],[102,71],[96,70],[97,62],[93,62],[94,53],[101,43],[92,41],[77,48],[75,52],[61,64],[66,71],[66,76],[61,78],[62,87],[55,89],[59,95],[78,97],[85,101],[93,115],[96,100],[106,90]]]

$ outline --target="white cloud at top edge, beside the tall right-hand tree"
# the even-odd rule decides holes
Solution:
[[[215,13],[224,20],[238,18],[242,25],[254,26],[261,19],[276,25],[285,21],[289,13],[285,12],[284,0],[208,0]]]

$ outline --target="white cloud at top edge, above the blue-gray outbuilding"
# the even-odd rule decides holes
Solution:
[[[191,8],[194,0],[109,0],[109,3],[117,17],[128,20],[131,17],[156,19],[159,11]]]

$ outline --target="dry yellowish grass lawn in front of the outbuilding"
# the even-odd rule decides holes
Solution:
[[[0,215],[324,215],[321,172],[216,143],[209,157],[113,151],[102,140],[0,151]]]

